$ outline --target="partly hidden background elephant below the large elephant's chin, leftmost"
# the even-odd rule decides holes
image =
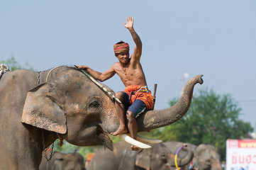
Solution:
[[[48,153],[50,155],[50,153]],[[84,157],[77,152],[54,152],[50,161],[44,157],[39,166],[40,170],[85,170]]]

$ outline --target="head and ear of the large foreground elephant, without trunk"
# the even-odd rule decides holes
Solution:
[[[113,149],[102,129],[106,115],[116,115],[113,99],[72,67],[57,67],[46,74],[43,84],[28,91],[22,123],[55,132],[73,145]]]

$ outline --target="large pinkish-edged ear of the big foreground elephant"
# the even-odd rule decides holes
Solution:
[[[45,83],[28,91],[21,122],[53,132],[67,132],[66,115]]]

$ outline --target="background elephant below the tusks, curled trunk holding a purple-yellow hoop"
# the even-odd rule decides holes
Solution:
[[[166,170],[169,167],[175,167],[174,154],[162,143],[152,145],[150,149],[140,149],[134,152],[126,142],[116,142],[116,154],[106,148],[99,149],[89,162],[87,170],[117,170],[117,169],[151,169]],[[179,166],[189,164],[194,157],[192,149],[184,147],[187,156],[183,159],[177,159]]]

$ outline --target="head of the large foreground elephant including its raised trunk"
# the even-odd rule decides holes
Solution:
[[[113,98],[73,67],[56,67],[46,73],[46,81],[26,96],[22,123],[56,132],[73,145],[113,149],[107,135],[119,125]],[[138,131],[160,128],[182,118],[189,109],[194,85],[203,83],[201,77],[188,81],[181,98],[171,108],[148,111],[138,117]]]

